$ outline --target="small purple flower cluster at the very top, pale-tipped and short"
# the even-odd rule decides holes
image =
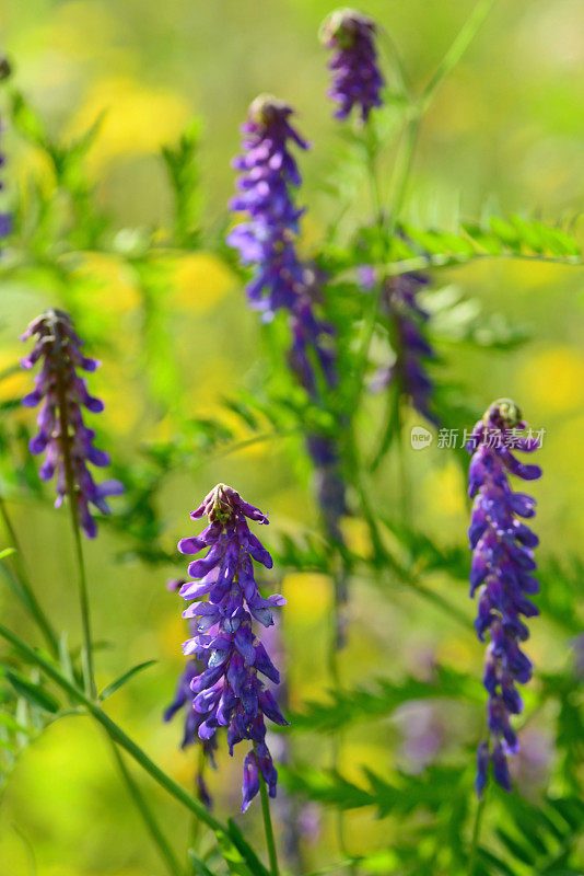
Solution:
[[[383,103],[385,82],[377,66],[376,31],[375,22],[354,9],[338,9],[323,23],[320,39],[326,48],[334,49],[328,95],[339,105],[337,118],[347,118],[357,106],[366,122],[373,107]]]

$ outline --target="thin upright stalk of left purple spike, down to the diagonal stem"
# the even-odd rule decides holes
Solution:
[[[77,486],[73,476],[73,465],[71,460],[71,438],[69,435],[69,424],[67,422],[67,393],[62,381],[57,381],[57,393],[59,397],[59,425],[61,431],[61,450],[65,466],[65,477],[67,483],[67,495],[69,497],[69,510],[71,514],[71,529],[75,546],[75,558],[78,565],[79,603],[81,608],[81,625],[83,629],[83,677],[85,680],[85,692],[95,698],[95,678],[93,670],[93,645],[91,637],[90,621],[90,600],[87,596],[87,577],[85,574],[85,562],[83,558],[83,548],[81,544],[81,531],[79,526],[79,507],[77,502]]]

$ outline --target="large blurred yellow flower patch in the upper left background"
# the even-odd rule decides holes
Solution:
[[[180,94],[162,88],[148,89],[129,77],[109,77],[90,89],[68,135],[81,135],[103,115],[87,161],[95,173],[122,155],[149,154],[176,140],[191,114]]]

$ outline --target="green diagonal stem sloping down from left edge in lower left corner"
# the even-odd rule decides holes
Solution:
[[[133,739],[131,739],[121,729],[121,727],[112,721],[112,718],[94,700],[92,700],[86,693],[69,681],[69,679],[67,679],[56,666],[43,657],[42,654],[38,654],[38,652],[36,652],[34,648],[30,647],[30,645],[23,642],[20,636],[17,636],[3,624],[0,624],[0,636],[5,638],[7,642],[10,642],[10,644],[13,645],[23,657],[43,669],[48,678],[55,681],[55,683],[58,684],[67,694],[69,694],[72,700],[77,701],[80,705],[85,706],[92,717],[106,729],[113,741],[124,748],[128,754],[130,754],[130,757],[133,758],[133,760],[139,763],[140,766],[142,766],[142,769],[149,775],[151,775],[159,785],[161,785],[161,787],[163,787],[175,799],[182,803],[183,806],[194,812],[197,818],[203,821],[209,828],[211,828],[211,830],[229,835],[227,828],[222,825],[221,821],[212,816],[211,812],[209,812],[205,806],[199,803],[199,800],[196,800],[195,797],[180,787],[180,785],[171,779],[170,775],[166,775],[166,773],[148,757],[145,751],[143,751],[140,746],[137,745]]]

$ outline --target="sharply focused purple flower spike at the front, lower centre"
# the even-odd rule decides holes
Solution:
[[[195,538],[183,539],[178,550],[197,554],[209,549],[207,556],[190,563],[189,581],[179,590],[187,600],[196,601],[183,616],[195,620],[197,634],[184,645],[186,656],[195,656],[202,671],[190,681],[195,694],[192,707],[201,739],[211,739],[219,727],[227,727],[230,753],[237,742],[253,741],[244,761],[243,805],[248,807],[259,791],[264,776],[270,796],[276,796],[278,773],[266,745],[265,717],[287,724],[273,695],[259,679],[265,676],[275,684],[280,677],[266,648],[255,635],[253,619],[264,626],[273,623],[272,609],[283,606],[279,595],[264,598],[254,576],[254,562],[271,568],[272,561],[259,540],[249,531],[247,520],[267,523],[268,518],[240,494],[219,484],[202,505],[190,515],[198,520],[207,515],[209,526]]]

